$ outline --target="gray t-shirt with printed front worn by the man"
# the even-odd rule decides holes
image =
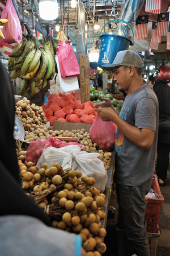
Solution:
[[[125,98],[120,117],[139,129],[155,131],[154,142],[143,150],[116,131],[116,180],[122,185],[142,185],[154,173],[158,139],[158,99],[151,85],[143,85]]]

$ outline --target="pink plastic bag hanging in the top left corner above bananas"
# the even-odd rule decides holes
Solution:
[[[12,0],[7,0],[3,8],[1,19],[8,19],[9,22],[2,28],[5,39],[0,39],[1,43],[20,43],[22,40],[22,27],[20,26],[18,15],[14,9]]]

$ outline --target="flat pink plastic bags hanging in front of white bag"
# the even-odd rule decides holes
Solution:
[[[80,75],[79,64],[73,46],[70,46],[70,43],[71,41],[65,40],[65,46],[61,41],[57,44],[57,57],[62,79],[71,76],[79,77]]]

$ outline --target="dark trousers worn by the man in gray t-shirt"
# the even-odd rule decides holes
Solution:
[[[134,253],[138,256],[150,255],[146,234],[145,196],[150,191],[151,183],[152,177],[139,186],[116,183],[120,216],[122,215],[121,225],[125,230],[126,238],[133,245]]]

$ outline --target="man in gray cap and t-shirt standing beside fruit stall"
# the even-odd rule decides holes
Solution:
[[[138,53],[117,53],[112,64],[103,65],[114,72],[114,83],[128,95],[118,115],[112,102],[103,98],[96,109],[103,121],[117,125],[115,180],[125,236],[138,256],[149,256],[145,196],[150,191],[155,170],[158,139],[158,99],[152,86],[142,82],[143,61]]]

